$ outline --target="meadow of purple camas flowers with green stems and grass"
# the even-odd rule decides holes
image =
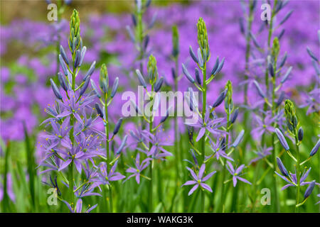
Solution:
[[[1,211],[319,212],[319,1],[127,4],[1,24]]]

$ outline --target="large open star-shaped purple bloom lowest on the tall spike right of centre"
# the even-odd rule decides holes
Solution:
[[[191,173],[191,177],[193,178],[193,180],[187,181],[186,183],[182,184],[182,186],[196,184],[189,191],[188,196],[193,194],[193,192],[196,191],[196,189],[198,189],[199,186],[202,189],[206,189],[207,191],[212,192],[212,189],[210,188],[210,186],[208,184],[205,184],[204,182],[206,182],[208,179],[210,179],[210,177],[212,177],[216,171],[210,172],[208,175],[206,175],[206,177],[204,177],[203,173],[205,172],[205,169],[206,169],[205,164],[201,165],[200,170],[197,174],[196,174],[196,172],[191,170],[191,168],[189,168],[189,167],[186,167],[186,168]]]

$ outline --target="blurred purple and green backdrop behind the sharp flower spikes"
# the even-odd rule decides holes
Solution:
[[[138,53],[126,29],[126,26],[132,26],[131,13],[134,2],[127,0],[70,1],[65,4],[65,10],[58,22],[48,21],[46,1],[1,0],[0,4],[0,156],[6,141],[12,140],[14,141],[12,163],[16,165],[21,162],[23,166],[26,158],[25,153],[21,152],[25,146],[23,123],[26,124],[28,135],[34,141],[36,159],[41,157],[36,147],[43,130],[39,124],[47,116],[45,107],[54,102],[49,79],[56,78],[59,70],[56,61],[58,43],[68,49],[68,20],[73,9],[77,9],[80,13],[81,36],[84,45],[87,46],[85,64],[80,72],[80,78],[95,60],[97,70],[92,74],[95,82],[99,77],[98,69],[102,63],[106,63],[111,83],[112,79],[119,77],[119,93],[126,90],[136,91],[135,87],[138,83],[133,72],[137,68],[135,59]],[[267,45],[267,31],[260,32],[263,24],[260,19],[262,12],[260,5],[261,2],[255,11],[252,32],[264,48]],[[293,9],[293,14],[276,31],[277,34],[284,29],[280,55],[287,52],[286,64],[293,66],[289,82],[284,84],[284,92],[287,98],[296,101],[297,105],[302,105],[308,99],[306,94],[315,87],[319,87],[319,77],[314,72],[306,47],[309,47],[316,56],[320,55],[317,36],[317,31],[320,29],[320,1],[294,0],[289,1],[286,7],[288,10]],[[280,12],[279,18],[286,13],[286,10]],[[174,24],[178,26],[180,50],[178,62],[180,65],[185,63],[192,72],[194,65],[188,54],[188,47],[189,45],[193,48],[197,46],[196,22],[199,16],[202,16],[207,23],[212,59],[217,56],[220,59],[225,57],[223,71],[210,85],[208,103],[215,101],[225,82],[230,79],[234,84],[235,103],[242,104],[245,37],[240,33],[239,26],[239,20],[243,17],[240,1],[153,1],[151,10],[144,16],[144,21],[150,23],[155,15],[154,28],[149,31],[148,52],[156,57],[159,74],[164,76],[166,87],[169,89],[174,83],[171,76],[171,67],[174,67],[171,59],[171,27]],[[259,60],[263,56],[256,57],[255,60]],[[214,61],[212,60],[210,64],[212,64],[210,67],[213,67]],[[255,72],[250,77],[263,77],[262,73]],[[179,90],[186,91],[188,81],[181,79],[178,87]],[[254,104],[257,91],[251,85],[249,96],[250,103]],[[117,121],[121,116],[119,109],[122,105],[120,95],[115,96],[114,99],[110,108],[112,122]],[[319,106],[316,108],[319,113]],[[132,123],[127,121],[124,131],[132,127]],[[181,132],[185,130],[181,124]],[[169,127],[169,135],[173,133],[173,127],[171,131]],[[316,138],[313,140],[316,141]],[[0,164],[3,163],[1,159]],[[20,191],[11,184],[11,199],[16,201],[17,196],[23,196],[18,193]]]

